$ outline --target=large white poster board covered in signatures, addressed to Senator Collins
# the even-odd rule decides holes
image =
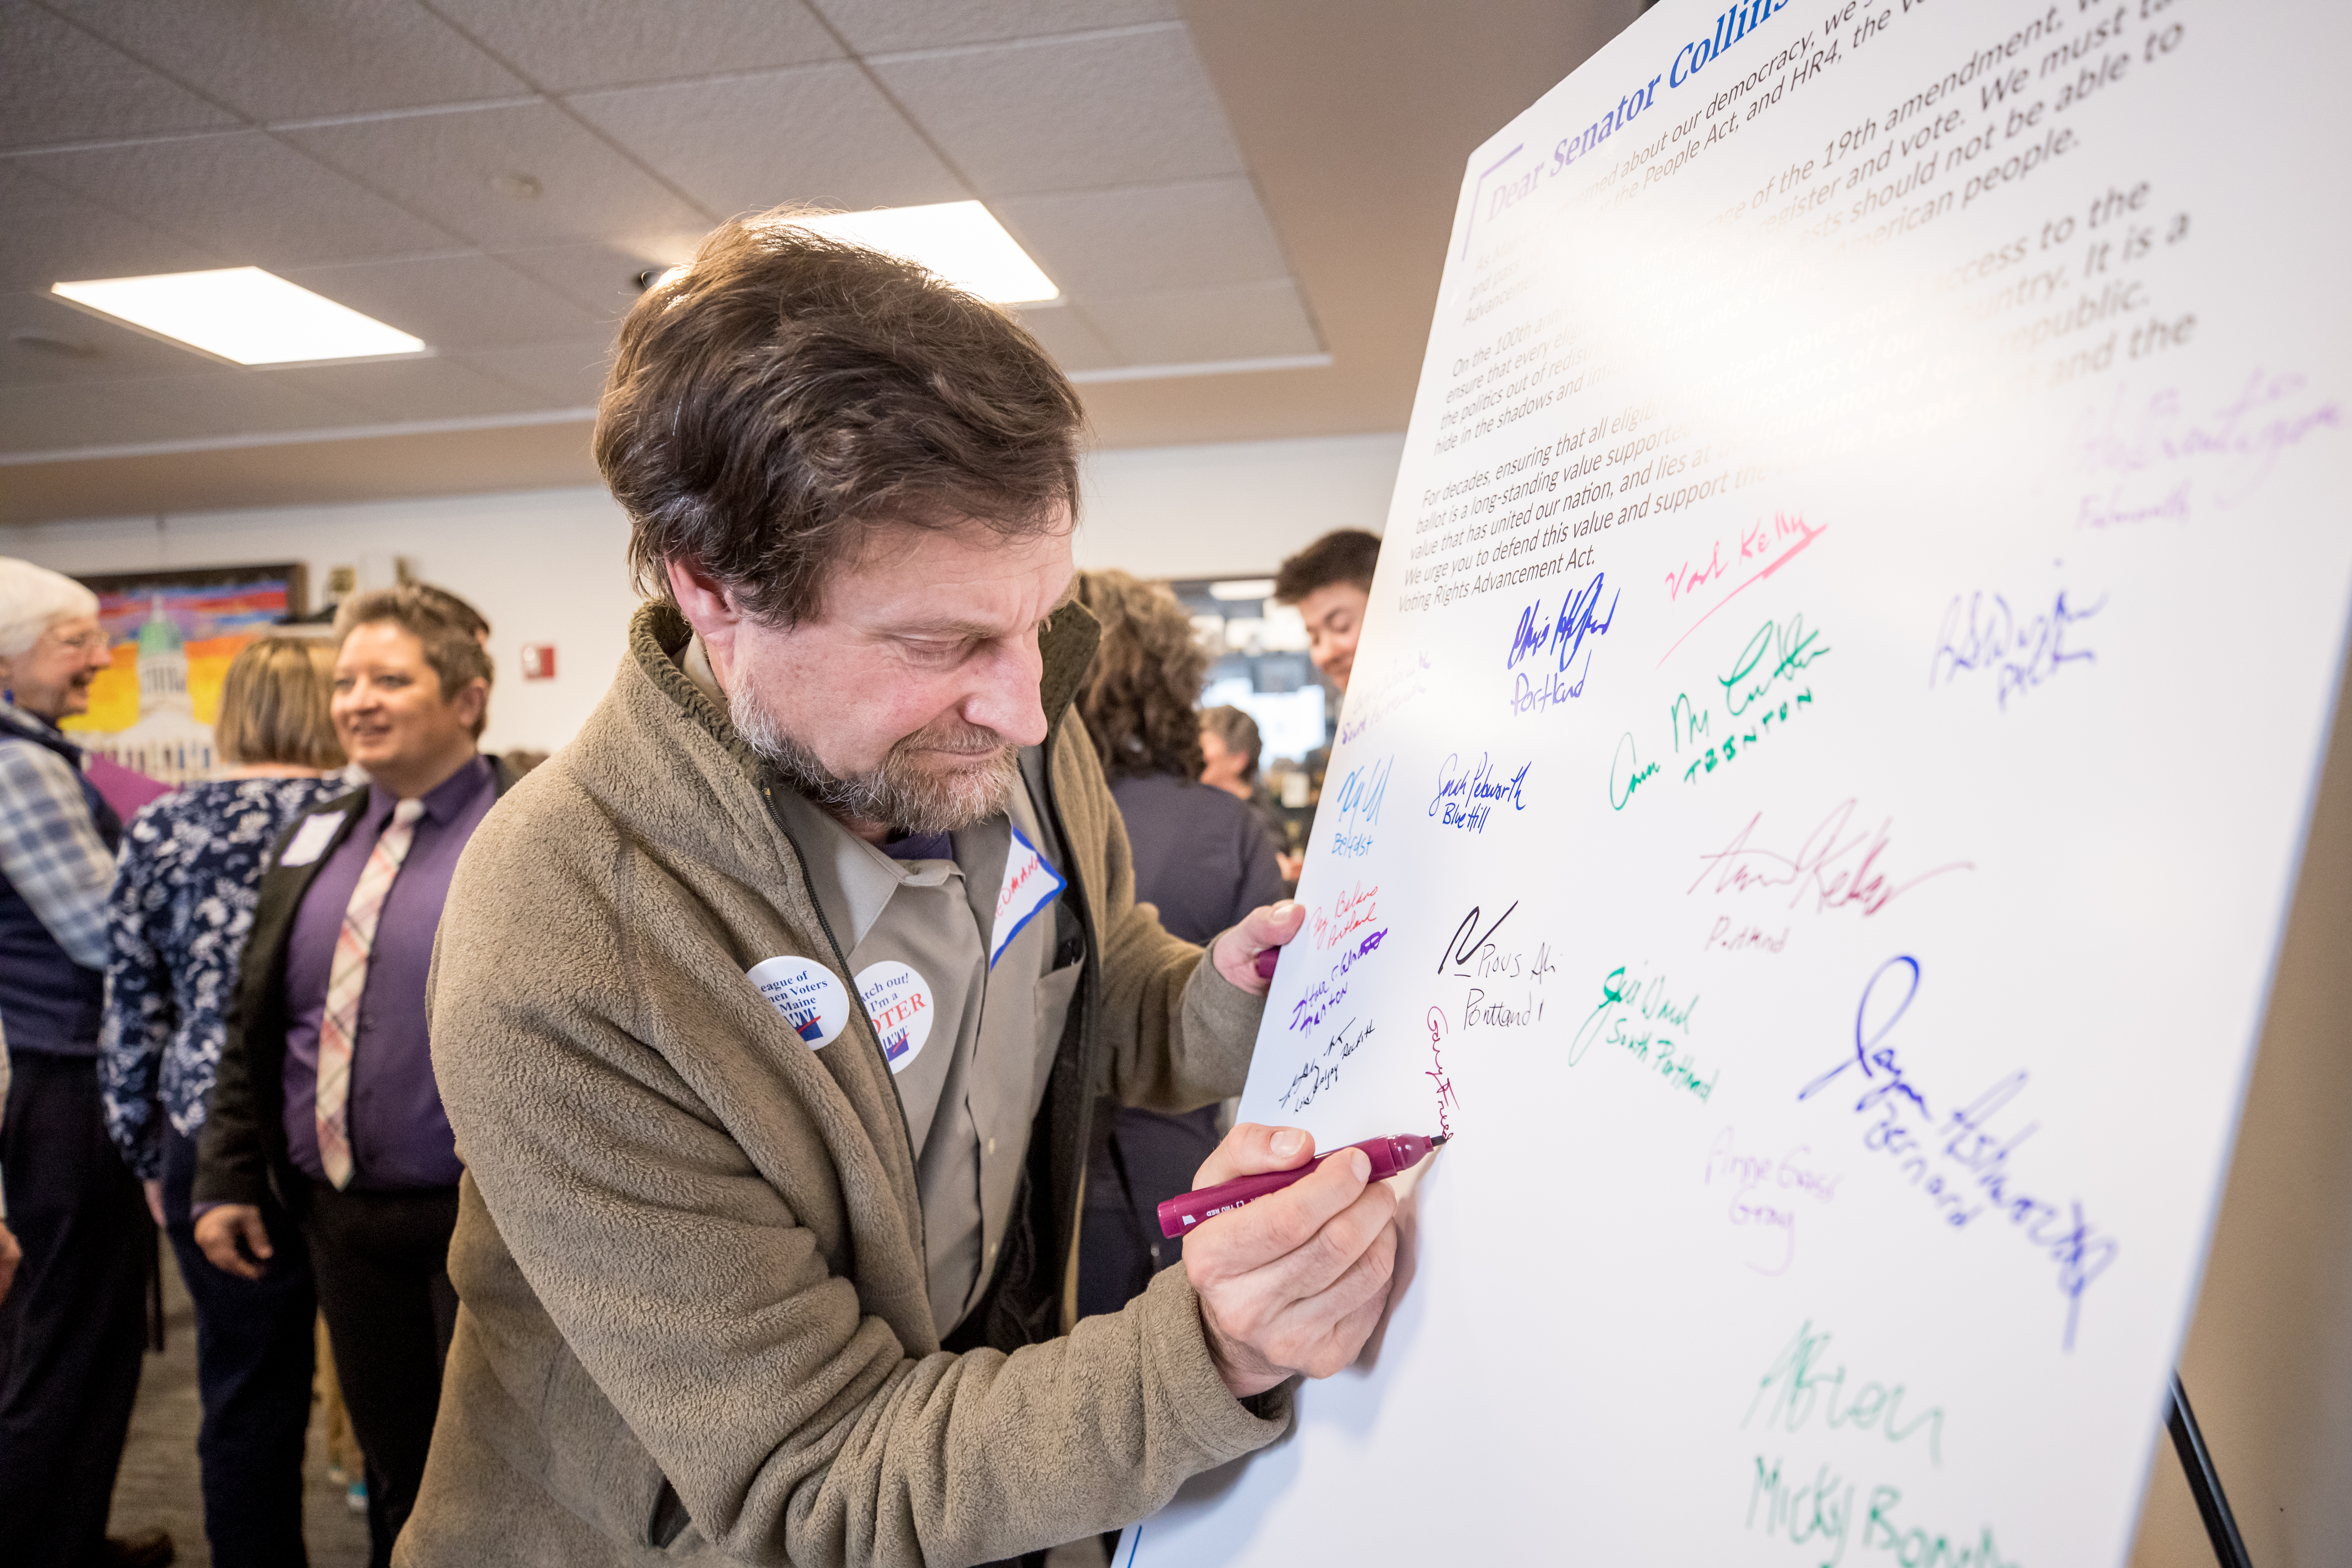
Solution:
[[[1120,1563],[2119,1563],[2352,590],[2343,7],[1668,0],[1470,160],[1244,1098],[1451,1131]]]

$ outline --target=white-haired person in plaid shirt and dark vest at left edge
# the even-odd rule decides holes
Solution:
[[[155,1225],[106,1138],[99,1016],[106,896],[122,820],[56,722],[111,663],[99,599],[0,557],[0,1027],[9,1088],[0,1182],[24,1248],[0,1382],[9,1561],[167,1563],[169,1537],[106,1540],[122,1462]]]

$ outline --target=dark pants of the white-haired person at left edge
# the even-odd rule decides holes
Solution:
[[[155,1222],[106,1138],[99,1065],[9,1053],[0,1119],[7,1225],[24,1265],[0,1314],[0,1561],[82,1568],[106,1542],[122,1436],[139,1399]]]

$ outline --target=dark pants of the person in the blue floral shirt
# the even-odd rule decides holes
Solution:
[[[310,1429],[310,1248],[275,1204],[263,1206],[273,1258],[261,1279],[205,1262],[188,1218],[195,1143],[169,1126],[162,1145],[165,1234],[195,1300],[195,1385],[205,1425],[205,1540],[214,1568],[303,1568],[301,1450]]]

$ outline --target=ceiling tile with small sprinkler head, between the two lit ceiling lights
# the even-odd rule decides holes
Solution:
[[[706,228],[708,219],[553,103],[280,132],[325,165],[477,244]],[[522,195],[492,181],[524,176]],[[536,190],[536,195],[529,195]]]

